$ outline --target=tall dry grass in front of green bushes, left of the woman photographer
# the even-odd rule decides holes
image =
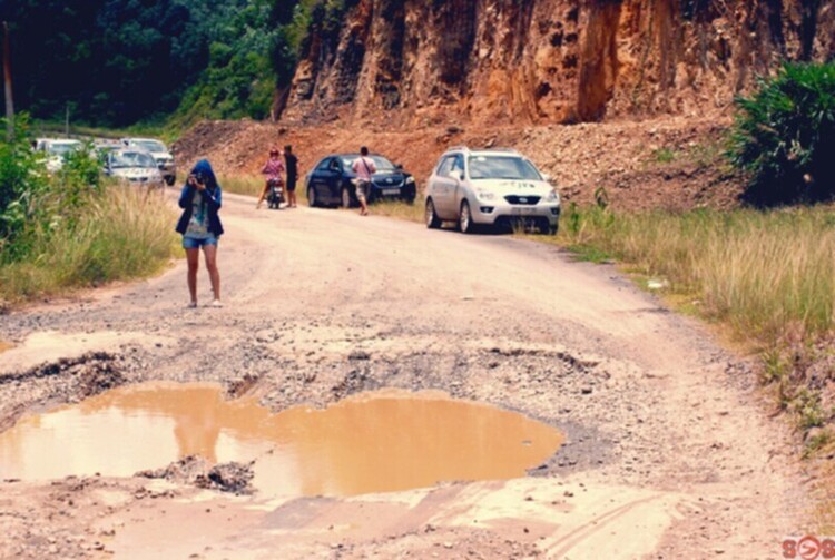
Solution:
[[[71,232],[36,230],[24,259],[0,265],[0,298],[21,301],[154,274],[177,254],[175,222],[161,195],[109,186]]]

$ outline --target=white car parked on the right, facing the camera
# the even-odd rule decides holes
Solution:
[[[532,223],[556,234],[560,195],[537,166],[513,149],[451,148],[441,156],[426,185],[426,227],[456,222],[471,233],[477,225]]]

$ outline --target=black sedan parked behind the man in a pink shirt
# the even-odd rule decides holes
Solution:
[[[356,177],[351,165],[360,154],[333,154],[321,159],[305,177],[305,190],[311,206],[356,206]],[[418,196],[414,177],[377,154],[370,156],[377,171],[371,177],[369,203],[380,199],[400,199],[409,204]]]

